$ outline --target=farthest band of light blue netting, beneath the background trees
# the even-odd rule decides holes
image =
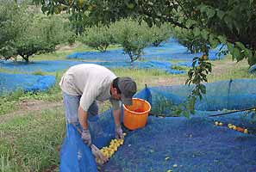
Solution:
[[[223,58],[223,55],[218,56],[217,53],[222,45],[209,51],[209,59],[215,60]],[[225,48],[225,47],[224,47]],[[178,44],[177,40],[170,39],[161,46],[149,46],[144,49],[142,58],[147,60],[191,60],[194,57],[200,57],[203,53],[190,53],[185,46]],[[75,52],[67,56],[67,58],[80,58],[86,60],[98,61],[128,61],[128,55],[124,54],[122,49],[109,50],[107,52]]]

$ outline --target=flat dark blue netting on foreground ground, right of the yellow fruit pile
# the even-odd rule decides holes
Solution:
[[[254,171],[255,141],[255,135],[214,126],[206,118],[150,117],[145,128],[128,133],[103,171]]]

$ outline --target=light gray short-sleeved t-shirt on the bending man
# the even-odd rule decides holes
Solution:
[[[81,95],[80,106],[87,111],[93,101],[112,103],[114,109],[121,107],[121,101],[114,100],[110,95],[110,85],[116,75],[109,69],[97,64],[78,64],[72,66],[59,83],[68,95]]]

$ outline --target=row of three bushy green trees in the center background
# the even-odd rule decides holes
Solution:
[[[131,63],[140,58],[147,46],[159,46],[172,35],[172,27],[167,24],[153,25],[149,28],[146,22],[133,19],[122,19],[109,26],[99,24],[85,28],[79,40],[100,52],[105,52],[109,45],[121,45],[128,54]]]

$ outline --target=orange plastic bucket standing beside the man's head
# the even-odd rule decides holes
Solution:
[[[151,110],[149,102],[143,99],[133,98],[133,105],[123,105],[123,108],[123,124],[129,130],[135,130],[146,126],[147,117]]]

